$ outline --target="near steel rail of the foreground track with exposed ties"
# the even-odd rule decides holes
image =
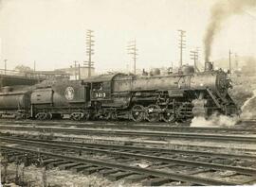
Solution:
[[[221,180],[215,180],[215,179],[210,179],[210,178],[199,178],[199,177],[194,177],[194,176],[190,176],[190,175],[182,175],[182,174],[177,174],[177,173],[140,168],[137,166],[130,166],[130,165],[125,165],[125,164],[121,164],[121,163],[117,163],[117,162],[98,161],[98,160],[92,160],[92,159],[69,157],[69,156],[60,155],[60,154],[53,154],[53,153],[46,152],[46,151],[37,151],[34,149],[19,148],[19,147],[6,146],[6,145],[1,145],[1,144],[0,144],[0,147],[2,149],[6,149],[6,150],[10,150],[10,151],[17,151],[17,152],[22,152],[22,153],[30,152],[30,153],[34,153],[34,154],[44,155],[44,156],[50,157],[50,158],[63,159],[63,160],[67,160],[67,161],[75,161],[75,162],[79,162],[79,163],[90,163],[90,164],[99,165],[99,166],[106,167],[106,168],[117,168],[120,170],[130,171],[130,172],[134,172],[134,173],[145,174],[145,175],[155,176],[155,177],[159,177],[159,178],[170,178],[173,180],[192,182],[194,184],[200,184],[200,185],[213,185],[213,186],[214,185],[216,185],[216,186],[217,185],[237,185],[237,183],[228,182],[228,181],[221,181]]]

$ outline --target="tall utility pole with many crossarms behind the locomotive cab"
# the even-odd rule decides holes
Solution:
[[[86,31],[86,55],[88,56],[88,61],[83,61],[83,65],[88,68],[88,77],[92,75],[91,69],[94,66],[94,62],[92,61],[92,56],[94,55],[93,46],[95,45],[93,33],[93,30],[88,29]]]

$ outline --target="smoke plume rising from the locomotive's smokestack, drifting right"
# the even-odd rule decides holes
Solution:
[[[221,30],[223,23],[234,14],[242,14],[246,8],[256,6],[256,0],[220,0],[210,11],[210,23],[204,38],[205,60],[209,61],[211,46],[216,33]]]

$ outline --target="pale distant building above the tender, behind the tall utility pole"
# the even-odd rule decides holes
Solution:
[[[58,69],[60,71],[64,71],[65,73],[70,75],[70,79],[84,79],[88,77],[89,73],[89,68],[85,66],[79,67],[73,67],[71,66],[70,68],[63,68],[63,69]],[[80,76],[80,77],[79,77]],[[95,68],[91,68],[91,76],[95,76]]]

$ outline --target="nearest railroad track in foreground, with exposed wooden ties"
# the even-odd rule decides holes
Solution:
[[[195,151],[187,151],[186,153],[185,151],[179,152],[179,157],[181,158],[174,159],[170,158],[170,151],[172,152],[172,150],[168,151],[164,149],[154,149],[136,146],[107,146],[106,144],[83,144],[83,146],[81,146],[82,144],[80,144],[79,146],[79,144],[76,143],[66,144],[56,141],[52,141],[51,143],[49,143],[35,140],[32,141],[15,139],[9,137],[1,137],[1,140],[7,143],[11,143],[11,146],[3,144],[0,145],[2,150],[7,150],[7,152],[5,152],[6,155],[13,155],[11,154],[13,152],[30,153],[33,155],[40,154],[41,156],[44,156],[46,164],[59,166],[65,169],[79,169],[82,170],[83,173],[97,171],[101,173],[101,171],[104,171],[103,173],[108,175],[108,177],[112,179],[133,178],[137,180],[146,178],[146,180],[144,181],[146,183],[144,184],[151,185],[164,184],[176,180],[182,182],[189,182],[189,184],[197,185],[235,185],[250,183],[255,180],[256,169],[248,167],[245,168],[241,166],[230,166],[228,162],[226,164],[214,163],[214,161],[212,160],[212,156],[210,156],[210,153],[206,152],[197,152],[197,156],[203,156],[203,158],[209,157],[208,161],[211,160],[213,161],[213,163],[207,162],[206,159],[204,161],[190,161],[184,160],[184,158],[181,157],[183,154],[192,155],[193,153],[195,153]],[[40,148],[40,150],[37,150],[38,148]],[[66,153],[68,153],[67,155],[64,155],[65,151]],[[70,151],[75,152],[70,153]],[[82,157],[84,153],[104,154],[108,155],[111,159],[108,158],[105,159],[105,161],[92,160],[88,159],[88,155],[84,156],[85,158],[87,158],[84,159],[84,157]],[[175,154],[177,154],[177,152],[175,152]],[[80,155],[80,157],[78,157],[78,155]],[[169,157],[167,157],[167,155],[169,155]],[[216,157],[216,160],[217,155],[215,154],[214,156]],[[226,159],[231,158],[231,155],[227,154],[222,154],[218,156]],[[236,160],[238,161],[252,160],[255,157],[248,155],[245,157],[243,155],[232,155],[232,159],[234,158],[236,158]],[[119,161],[119,159],[121,161]],[[149,167],[147,168],[131,166],[131,162],[138,160],[152,162],[149,163]],[[219,178],[202,178],[202,176],[200,175],[202,173],[212,172],[212,170],[214,170],[214,172],[219,172],[219,178],[225,178],[225,180],[220,180]],[[232,171],[233,173],[229,173],[228,175],[222,175],[222,172],[226,171]],[[241,179],[237,180],[235,178],[232,178],[237,175],[244,175],[245,180],[241,182]],[[227,178],[229,177],[231,177],[230,181],[227,181]]]

